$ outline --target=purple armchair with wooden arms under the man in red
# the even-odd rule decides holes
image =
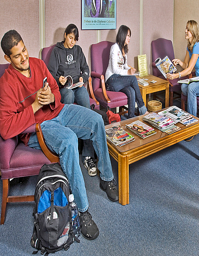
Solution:
[[[8,66],[9,64],[0,64],[0,76],[3,75]],[[59,157],[47,148],[39,124],[30,126],[23,133],[35,131],[42,151],[25,146],[18,140],[17,136],[8,140],[3,140],[0,136],[0,171],[3,180],[1,225],[5,222],[8,202],[34,201],[34,195],[9,196],[10,179],[37,175],[43,164],[59,162]]]

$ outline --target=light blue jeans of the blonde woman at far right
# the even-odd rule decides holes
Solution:
[[[199,96],[199,82],[181,85],[182,93],[187,96],[187,112],[193,116],[197,114],[197,99]]]

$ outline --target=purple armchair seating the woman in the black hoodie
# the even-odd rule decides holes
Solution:
[[[46,66],[48,67],[50,55],[52,52],[52,49],[55,47],[55,44],[49,47],[44,47],[41,51],[41,59],[44,61]],[[95,109],[99,109],[99,102],[95,99],[94,94],[89,90],[89,98],[90,98],[90,105],[94,104]]]

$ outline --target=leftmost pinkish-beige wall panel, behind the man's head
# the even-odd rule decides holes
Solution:
[[[20,33],[32,57],[39,57],[39,1],[1,0],[0,40],[10,29]],[[0,63],[7,63],[0,48]]]

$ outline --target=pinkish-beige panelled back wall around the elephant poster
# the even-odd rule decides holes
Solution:
[[[63,33],[69,23],[75,23],[79,29],[79,44],[90,67],[91,44],[97,43],[97,30],[81,30],[81,0],[45,1],[46,47],[63,39]],[[2,2],[1,2],[2,3]],[[137,55],[140,54],[140,3],[143,3],[143,54],[147,54],[151,67],[151,41],[164,37],[173,41],[173,0],[117,0],[116,30],[101,30],[101,41],[115,41],[121,24],[130,27],[132,36],[129,44],[128,64],[137,68]],[[10,7],[11,6],[11,7]],[[9,15],[7,10],[9,9]],[[71,15],[72,14],[72,15]],[[167,22],[162,17],[167,17]],[[0,38],[9,29],[16,29],[23,37],[29,55],[39,57],[39,0],[3,0],[0,9]],[[2,52],[2,51],[1,51]],[[0,63],[6,63],[3,52]]]

